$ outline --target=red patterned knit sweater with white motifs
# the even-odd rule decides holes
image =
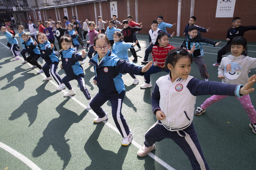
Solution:
[[[152,59],[153,62],[156,62],[158,64],[158,67],[162,68],[164,66],[165,58],[168,54],[169,51],[174,49],[172,45],[168,44],[166,47],[159,47],[159,46],[154,46],[152,48]]]

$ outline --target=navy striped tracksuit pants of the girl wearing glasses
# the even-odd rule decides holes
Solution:
[[[116,127],[119,130],[122,137],[127,137],[130,133],[130,129],[121,112],[124,94],[125,92],[123,91],[118,96],[108,98],[97,93],[92,98],[92,101],[90,102],[90,107],[100,118],[102,118],[106,115],[106,112],[102,109],[101,106],[109,100],[111,102],[112,117],[115,121]]]

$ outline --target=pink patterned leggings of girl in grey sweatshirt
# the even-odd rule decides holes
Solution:
[[[213,103],[216,103],[217,101],[220,101],[228,96],[220,96],[220,95],[213,95],[210,98],[206,99],[204,103],[201,105],[202,109],[206,109],[207,107],[211,106]],[[251,98],[249,94],[244,95],[240,98],[236,97],[240,103],[242,104],[244,110],[246,111],[247,115],[249,116],[249,119],[251,120],[252,124],[256,123],[256,111],[252,105]]]

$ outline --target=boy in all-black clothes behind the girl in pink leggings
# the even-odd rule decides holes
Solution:
[[[220,66],[220,62],[222,59],[222,56],[225,55],[228,51],[228,46],[230,42],[233,40],[234,37],[239,37],[239,36],[244,36],[244,32],[249,31],[249,30],[256,30],[256,26],[240,26],[241,25],[241,18],[235,17],[232,19],[232,27],[228,29],[226,41],[228,43],[224,45],[219,51],[217,55],[217,61],[215,64],[212,64],[212,66]],[[247,54],[243,53],[244,56],[247,56]]]

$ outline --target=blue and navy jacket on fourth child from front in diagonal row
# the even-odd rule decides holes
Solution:
[[[45,41],[44,44],[37,45],[40,49],[41,57],[47,64],[59,63],[58,56],[54,53],[54,47],[51,50],[51,43],[49,41]]]

